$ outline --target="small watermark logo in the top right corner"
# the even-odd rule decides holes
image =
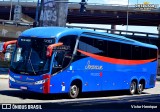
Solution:
[[[156,10],[159,7],[159,4],[150,4],[149,2],[143,2],[143,4],[135,4],[137,10],[150,11]]]

